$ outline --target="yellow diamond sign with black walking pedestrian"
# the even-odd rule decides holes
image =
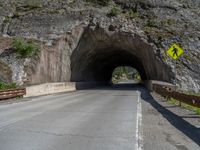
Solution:
[[[167,54],[172,57],[174,60],[178,59],[182,54],[184,53],[184,50],[177,44],[173,44],[168,50]]]

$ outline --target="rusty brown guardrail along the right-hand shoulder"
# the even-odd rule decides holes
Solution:
[[[166,98],[171,97],[180,102],[200,108],[199,96],[187,95],[187,94],[175,91],[174,87],[158,85],[158,84],[153,85],[153,90]]]

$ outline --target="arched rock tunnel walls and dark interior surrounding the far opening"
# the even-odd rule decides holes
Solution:
[[[172,80],[169,67],[139,36],[102,28],[85,29],[71,56],[71,81],[109,82],[118,66],[136,68],[142,80]]]

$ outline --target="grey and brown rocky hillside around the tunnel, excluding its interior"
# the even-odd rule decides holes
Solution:
[[[199,8],[200,0],[0,0],[0,60],[9,70],[0,68],[0,79],[10,82],[12,78],[18,84],[70,81],[74,49],[87,27],[98,27],[117,36],[140,37],[151,45],[156,59],[170,68],[169,79],[163,79],[173,83],[176,78],[181,89],[199,92]],[[14,37],[36,42],[39,56],[17,58],[11,46]],[[166,54],[172,43],[185,50],[176,61],[177,76],[175,62]]]

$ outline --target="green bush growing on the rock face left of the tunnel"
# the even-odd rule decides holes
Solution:
[[[34,42],[26,42],[22,38],[13,40],[12,47],[16,50],[19,58],[31,58],[39,52],[38,45]]]

